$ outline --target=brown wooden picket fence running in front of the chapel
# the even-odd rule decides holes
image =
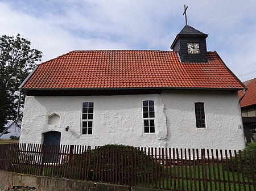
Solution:
[[[7,144],[0,169],[166,190],[256,190],[256,152],[236,150]]]

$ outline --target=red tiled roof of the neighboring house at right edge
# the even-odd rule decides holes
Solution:
[[[243,84],[245,84],[248,90],[241,101],[241,108],[256,104],[256,78],[243,82]],[[242,97],[243,92],[238,91],[238,95]]]

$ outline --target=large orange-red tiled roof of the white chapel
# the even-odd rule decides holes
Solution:
[[[208,59],[181,63],[171,51],[79,50],[41,63],[22,88],[243,88],[216,52]]]

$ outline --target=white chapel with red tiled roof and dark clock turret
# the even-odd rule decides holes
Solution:
[[[242,149],[245,86],[207,36],[185,26],[174,51],[81,50],[39,64],[20,85],[20,142]]]

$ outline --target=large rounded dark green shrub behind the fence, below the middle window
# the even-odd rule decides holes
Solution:
[[[152,171],[155,171],[155,167],[157,172],[159,172],[160,168],[158,160],[155,161],[155,159],[146,155],[144,151],[132,146],[105,145],[97,147],[96,149],[87,150],[79,156],[74,156],[73,164],[76,163],[79,165],[86,155],[90,155],[90,161],[87,161],[90,162],[88,180],[98,179],[96,176],[93,177],[93,171],[97,171],[97,173],[100,174],[109,172],[109,176],[111,172],[113,178],[117,176],[118,180],[125,182],[125,180],[131,180],[131,176],[128,177],[128,172],[130,172],[130,175],[133,173],[133,177],[135,177],[134,169],[136,169],[137,179],[141,179],[142,176],[144,177],[148,173],[151,175]],[[143,161],[142,163],[141,160]],[[131,168],[132,165],[133,168]],[[162,168],[160,168],[160,171],[162,171]]]

